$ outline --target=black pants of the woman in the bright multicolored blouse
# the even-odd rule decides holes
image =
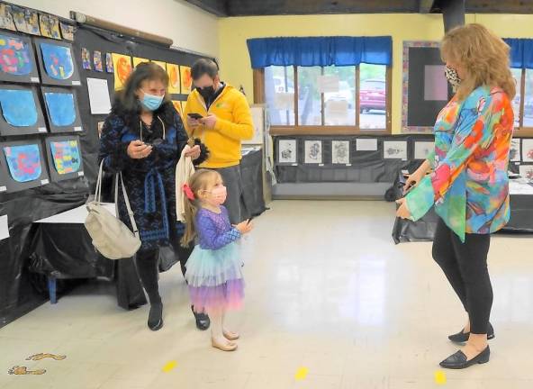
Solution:
[[[470,331],[487,333],[492,308],[492,285],[487,268],[489,234],[466,234],[459,240],[445,222],[438,221],[433,258],[442,268],[470,318]]]

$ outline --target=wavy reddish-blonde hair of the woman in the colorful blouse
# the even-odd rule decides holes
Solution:
[[[456,95],[464,100],[478,86],[499,86],[510,100],[516,94],[516,83],[509,66],[510,47],[482,24],[456,27],[444,36],[440,46],[442,59],[460,64],[466,77]]]

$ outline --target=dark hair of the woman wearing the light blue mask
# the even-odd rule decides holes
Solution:
[[[135,70],[131,72],[130,77],[126,80],[124,88],[117,91],[114,96],[112,112],[126,118],[137,117],[140,114],[140,102],[135,93],[140,89],[144,81],[158,80],[168,87],[168,75],[165,69],[153,62],[141,62]],[[168,93],[161,107],[156,111],[164,109],[170,103]]]

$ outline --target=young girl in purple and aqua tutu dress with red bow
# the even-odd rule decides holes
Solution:
[[[246,221],[232,227],[226,201],[226,187],[219,173],[198,170],[183,187],[185,192],[185,235],[187,246],[198,237],[198,245],[186,263],[185,280],[189,285],[194,312],[209,314],[211,344],[223,351],[233,351],[239,334],[224,329],[224,314],[240,307],[244,280],[239,247],[235,243],[252,230]]]

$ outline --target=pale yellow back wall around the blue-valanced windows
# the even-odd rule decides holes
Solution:
[[[468,14],[466,23],[483,23],[502,37],[533,37],[533,15]],[[252,103],[252,69],[246,40],[276,36],[393,36],[393,133],[402,122],[402,41],[438,41],[440,14],[345,14],[236,17],[219,20],[221,77],[243,85]]]

